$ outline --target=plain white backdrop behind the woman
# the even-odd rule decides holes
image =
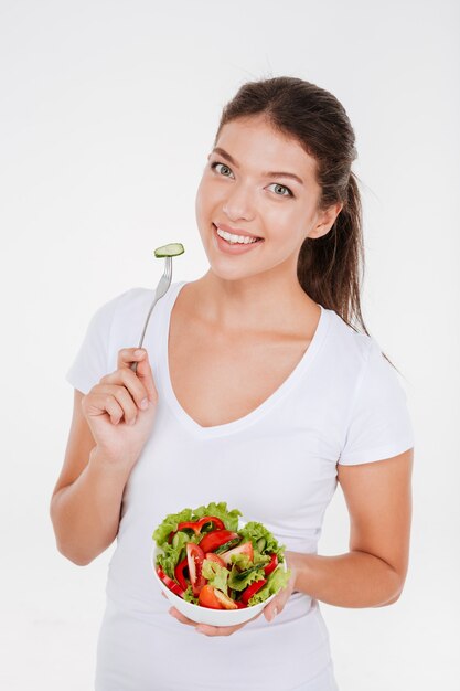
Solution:
[[[0,684],[83,691],[111,549],[54,545],[49,501],[88,320],[207,269],[194,196],[221,109],[300,76],[345,106],[363,182],[364,316],[404,374],[416,433],[410,571],[391,607],[322,605],[341,691],[458,691],[459,4],[0,0]],[[340,489],[320,553],[347,549]]]

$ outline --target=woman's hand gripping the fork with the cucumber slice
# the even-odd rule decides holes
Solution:
[[[83,397],[82,410],[104,458],[131,468],[152,429],[158,392],[146,350],[124,348],[117,368]]]

